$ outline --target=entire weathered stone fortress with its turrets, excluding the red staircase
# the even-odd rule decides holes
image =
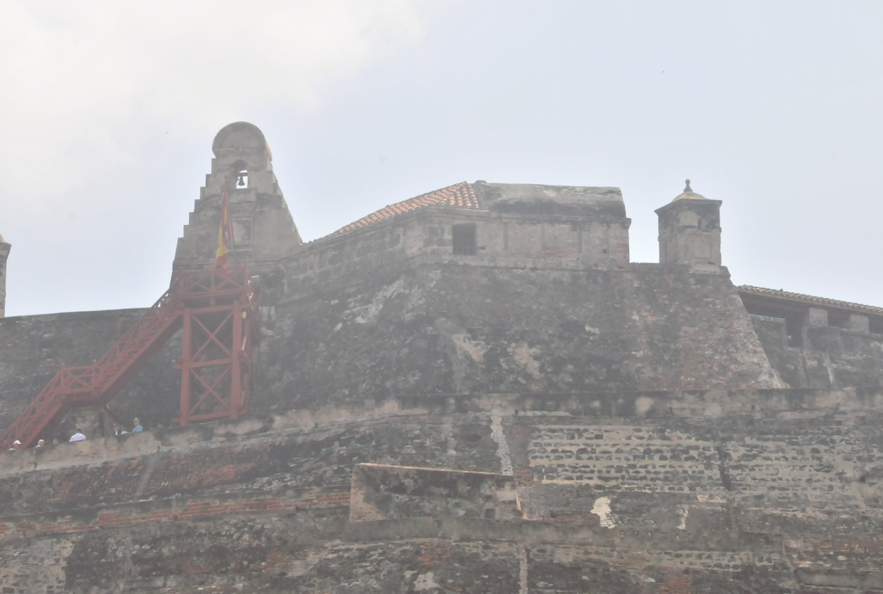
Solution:
[[[111,404],[167,428],[0,455],[4,593],[883,590],[883,309],[733,287],[689,186],[659,264],[615,188],[456,184],[301,244],[260,131],[213,148],[175,269],[226,178],[253,416],[170,427],[173,339]],[[139,313],[0,319],[0,427]]]

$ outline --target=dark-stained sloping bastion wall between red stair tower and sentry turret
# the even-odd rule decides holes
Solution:
[[[660,267],[412,263],[279,303],[264,328],[260,414],[386,395],[778,386],[728,277]]]

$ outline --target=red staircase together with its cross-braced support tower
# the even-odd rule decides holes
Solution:
[[[245,266],[178,273],[170,289],[100,360],[62,365],[0,437],[0,451],[15,440],[21,441],[19,447],[30,447],[48,437],[72,409],[107,405],[182,327],[177,423],[247,415],[252,342],[260,337],[259,297]]]

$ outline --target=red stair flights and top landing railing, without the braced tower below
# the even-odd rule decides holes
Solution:
[[[234,302],[251,311],[252,324],[247,326],[256,330],[254,324],[260,320],[260,312],[247,267],[178,274],[172,287],[101,359],[80,367],[62,365],[34,402],[0,436],[0,451],[11,447],[15,440],[21,441],[21,447],[30,447],[42,434],[54,430],[64,415],[76,406],[103,406],[110,402],[125,382],[182,326],[185,310],[193,305],[232,305]],[[250,345],[250,339],[248,342]],[[232,416],[241,412],[234,411]]]

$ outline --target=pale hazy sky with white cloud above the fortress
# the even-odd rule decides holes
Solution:
[[[683,179],[733,281],[883,305],[883,3],[0,2],[7,315],[168,286],[215,133],[273,148],[301,235],[445,185]]]

